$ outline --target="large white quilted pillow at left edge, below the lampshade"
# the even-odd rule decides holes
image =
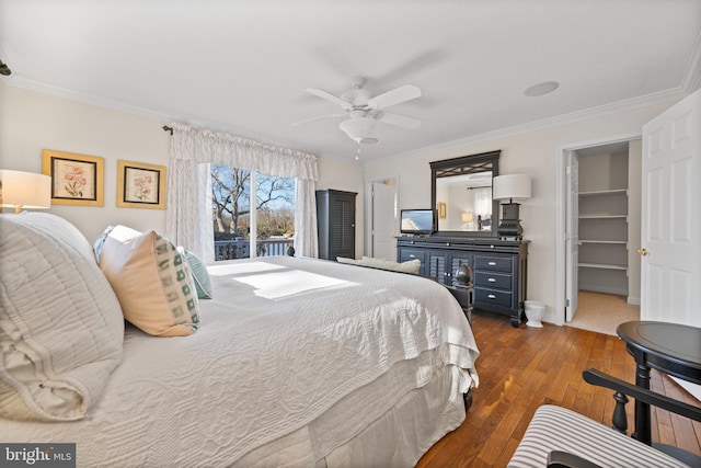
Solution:
[[[55,215],[0,215],[0,418],[85,418],[124,343],[90,243]]]

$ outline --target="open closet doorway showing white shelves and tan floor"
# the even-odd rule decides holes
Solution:
[[[567,155],[565,323],[616,334],[640,318],[640,139]]]

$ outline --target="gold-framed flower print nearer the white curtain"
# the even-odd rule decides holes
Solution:
[[[117,207],[165,209],[165,167],[117,160]]]

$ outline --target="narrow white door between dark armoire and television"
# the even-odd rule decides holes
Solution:
[[[372,256],[397,260],[394,186],[372,183]]]

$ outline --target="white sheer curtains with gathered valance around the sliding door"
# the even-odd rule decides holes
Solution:
[[[233,135],[171,124],[165,232],[177,246],[214,261],[210,164],[295,178],[295,250],[317,256],[317,157]]]

